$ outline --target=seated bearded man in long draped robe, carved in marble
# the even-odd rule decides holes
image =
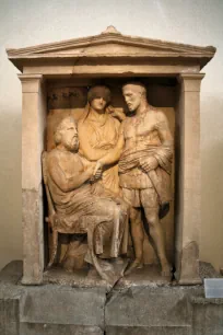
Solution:
[[[95,194],[95,163],[78,153],[79,139],[72,117],[64,118],[55,132],[56,148],[47,158],[47,180],[64,233],[87,233],[85,261],[93,264],[103,279],[114,285],[119,278],[102,258],[127,253],[128,207],[118,197],[101,189]],[[107,269],[107,270],[106,270]]]

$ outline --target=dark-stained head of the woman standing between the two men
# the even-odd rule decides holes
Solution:
[[[110,103],[110,90],[103,85],[96,85],[89,90],[87,101],[90,106],[97,113],[104,113]]]

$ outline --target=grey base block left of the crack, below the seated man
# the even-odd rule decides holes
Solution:
[[[106,292],[56,285],[32,287],[20,299],[20,322],[104,327]]]

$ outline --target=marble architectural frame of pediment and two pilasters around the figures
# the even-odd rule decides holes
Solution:
[[[45,148],[46,102],[49,81],[64,83],[68,78],[78,78],[82,82],[98,82],[102,78],[178,80],[169,105],[176,111],[177,142],[174,263],[177,280],[181,285],[199,284],[199,109],[200,83],[203,78],[200,70],[213,58],[215,48],[126,36],[109,26],[96,36],[7,51],[9,59],[22,72],[19,78],[23,94],[23,284],[43,284],[45,262],[40,152]],[[92,84],[90,82],[83,86]],[[77,96],[72,91],[64,94],[71,94],[72,101]],[[79,97],[81,104],[84,103],[81,91]],[[70,103],[69,99],[67,102]],[[35,208],[34,213],[31,213],[31,208]],[[31,241],[35,242],[30,244]]]

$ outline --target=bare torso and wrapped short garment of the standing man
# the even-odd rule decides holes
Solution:
[[[163,146],[160,138],[160,130],[165,128],[168,126],[164,114],[155,109],[127,117],[121,124],[126,146],[119,161],[119,181],[124,197],[132,207],[154,208],[171,200],[173,148]],[[159,162],[152,173],[140,168],[140,159],[149,157]]]

